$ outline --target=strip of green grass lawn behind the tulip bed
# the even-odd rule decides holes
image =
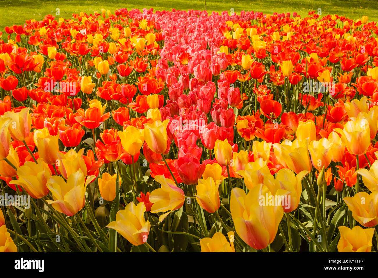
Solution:
[[[102,8],[114,12],[119,8],[153,8],[154,10],[171,9],[205,9],[204,1],[196,0],[1,0],[0,1],[0,31],[4,32],[5,26],[20,25],[28,19],[41,20],[46,14],[56,15],[57,18],[70,18],[73,13],[80,11],[88,14],[101,11]],[[259,11],[264,13],[273,12],[297,12],[301,16],[307,16],[308,11],[320,8],[322,16],[327,14],[339,14],[352,19],[369,16],[369,20],[378,19],[378,5],[376,0],[208,0],[207,11],[230,11],[235,12]],[[6,36],[3,35],[3,38]]]

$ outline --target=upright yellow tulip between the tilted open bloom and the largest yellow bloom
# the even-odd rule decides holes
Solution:
[[[218,188],[220,180],[215,181],[212,177],[208,177],[206,180],[199,179],[198,185],[195,187],[197,194],[195,199],[201,208],[208,213],[214,213],[220,207]]]

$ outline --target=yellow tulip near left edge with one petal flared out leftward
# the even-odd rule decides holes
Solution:
[[[9,183],[22,186],[34,199],[40,199],[49,193],[46,183],[51,177],[51,171],[42,158],[38,158],[37,163],[26,161],[17,169],[17,175],[19,179]]]

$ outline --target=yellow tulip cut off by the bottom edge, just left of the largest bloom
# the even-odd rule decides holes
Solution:
[[[216,232],[212,238],[201,238],[201,252],[235,252],[235,232],[229,231],[227,235],[229,242],[220,232]]]

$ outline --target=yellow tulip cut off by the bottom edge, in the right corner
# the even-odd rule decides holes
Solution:
[[[352,229],[349,227],[338,227],[340,231],[340,239],[337,244],[338,252],[371,252],[372,239],[374,229],[364,229],[360,226],[355,226]]]

